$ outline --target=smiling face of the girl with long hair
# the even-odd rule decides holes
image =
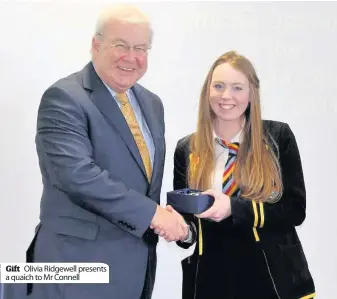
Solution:
[[[219,121],[242,119],[249,104],[249,81],[230,64],[218,65],[213,72],[209,102]]]

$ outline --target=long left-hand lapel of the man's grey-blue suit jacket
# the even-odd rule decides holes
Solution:
[[[92,91],[91,100],[106,117],[108,123],[116,129],[120,137],[124,140],[131,155],[146,176],[144,164],[130,128],[111,93],[98,77],[92,63],[89,63],[83,69],[82,79],[83,87]]]

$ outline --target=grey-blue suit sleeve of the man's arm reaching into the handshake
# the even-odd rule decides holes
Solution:
[[[74,204],[143,237],[157,204],[95,164],[85,112],[62,86],[49,88],[42,97],[36,146],[52,184]]]

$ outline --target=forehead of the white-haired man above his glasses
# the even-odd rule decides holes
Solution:
[[[138,45],[151,43],[152,32],[148,23],[136,23],[123,20],[109,20],[103,29],[105,36]]]

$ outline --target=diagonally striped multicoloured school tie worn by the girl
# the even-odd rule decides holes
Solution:
[[[216,138],[218,144],[228,149],[228,159],[225,165],[225,171],[222,178],[222,192],[228,196],[240,195],[240,189],[234,180],[235,160],[239,151],[239,143],[228,143],[220,138]]]

